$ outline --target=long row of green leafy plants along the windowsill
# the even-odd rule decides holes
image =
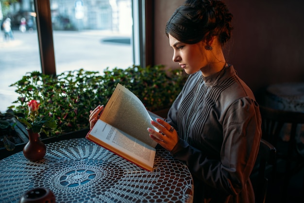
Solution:
[[[185,82],[182,70],[166,70],[164,66],[106,68],[101,74],[79,69],[57,76],[33,71],[11,85],[19,97],[9,108],[26,115],[27,102],[39,101],[39,112],[57,122],[50,135],[62,135],[88,128],[89,111],[106,105],[118,83],[134,92],[148,110],[156,111],[169,108]]]

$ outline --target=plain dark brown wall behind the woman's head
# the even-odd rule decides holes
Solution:
[[[183,0],[155,1],[155,64],[179,68],[165,24]],[[267,85],[304,82],[304,0],[225,0],[234,15],[228,63],[259,94]]]

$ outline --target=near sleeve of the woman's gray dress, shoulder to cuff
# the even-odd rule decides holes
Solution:
[[[258,104],[248,97],[232,103],[223,113],[220,159],[179,140],[171,151],[185,161],[193,176],[227,194],[238,194],[249,180],[261,139]]]

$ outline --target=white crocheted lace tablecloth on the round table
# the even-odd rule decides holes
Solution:
[[[57,203],[192,202],[191,174],[165,150],[156,150],[152,172],[85,139],[47,145],[38,162],[18,152],[0,161],[0,200],[19,202],[35,187],[47,187]]]

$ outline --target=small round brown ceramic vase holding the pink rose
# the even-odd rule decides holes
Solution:
[[[45,144],[39,139],[39,134],[34,133],[32,129],[27,129],[29,142],[23,148],[24,156],[30,161],[39,161],[43,159],[47,152]]]

